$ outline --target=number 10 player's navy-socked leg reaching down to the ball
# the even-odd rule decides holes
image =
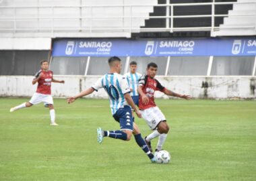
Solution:
[[[150,158],[150,160],[152,162],[155,162],[154,155],[152,154],[152,152],[150,152],[150,149],[148,148],[147,143],[141,137],[139,127],[136,125],[136,123],[133,123],[133,135],[135,137],[135,141],[136,141],[137,145],[139,145],[139,147],[141,147],[143,152],[145,152],[148,155],[148,158]]]

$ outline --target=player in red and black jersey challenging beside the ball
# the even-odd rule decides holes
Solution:
[[[139,86],[137,91],[140,95],[139,97],[139,109],[141,110],[141,116],[146,120],[148,126],[153,130],[153,132],[145,137],[145,141],[152,152],[151,140],[155,137],[158,138],[158,144],[156,147],[156,152],[162,149],[162,145],[166,140],[167,133],[169,131],[168,124],[166,123],[166,118],[160,109],[156,106],[154,102],[155,91],[161,91],[162,93],[172,96],[180,97],[189,100],[191,97],[189,95],[179,95],[168,90],[154,78],[158,70],[157,64],[151,62],[147,67],[147,75],[141,76],[139,79]]]

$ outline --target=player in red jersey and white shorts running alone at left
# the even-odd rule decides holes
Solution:
[[[55,122],[55,109],[53,107],[53,97],[51,95],[51,82],[57,82],[64,84],[64,80],[55,80],[53,78],[53,72],[49,70],[49,62],[47,60],[42,60],[40,62],[41,70],[36,72],[34,79],[32,80],[32,84],[36,84],[38,82],[38,86],[36,89],[36,93],[32,96],[30,101],[26,103],[22,103],[16,107],[12,107],[10,112],[16,111],[18,109],[22,109],[25,107],[32,107],[32,105],[36,105],[38,103],[44,103],[45,107],[49,107],[50,109],[50,117],[51,117],[51,125],[58,125]]]

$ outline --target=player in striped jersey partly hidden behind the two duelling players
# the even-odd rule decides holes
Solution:
[[[127,82],[131,90],[131,93],[130,93],[131,98],[133,99],[133,102],[135,103],[135,105],[139,106],[139,93],[137,93],[137,86],[138,86],[139,78],[141,78],[141,74],[136,72],[136,70],[137,70],[137,62],[132,61],[130,63],[130,72],[125,74],[125,77],[127,78]],[[134,118],[134,114],[133,114],[133,118]]]

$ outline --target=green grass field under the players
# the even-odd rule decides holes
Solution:
[[[135,143],[104,138],[119,129],[107,100],[55,99],[58,127],[42,104],[0,99],[0,180],[256,180],[256,102],[157,100],[171,130],[170,164],[151,164]],[[150,129],[136,119],[143,136]],[[152,141],[156,146],[157,140]]]

